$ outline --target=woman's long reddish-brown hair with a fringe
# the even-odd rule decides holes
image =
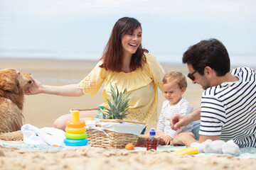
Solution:
[[[110,39],[100,59],[103,60],[103,64],[100,65],[100,67],[109,69],[112,72],[122,72],[122,37],[129,33],[129,31],[133,32],[138,27],[142,28],[141,23],[139,23],[137,19],[129,17],[120,18],[117,23],[114,24]],[[132,71],[143,67],[144,63],[146,63],[144,52],[148,52],[148,50],[143,49],[142,44],[140,44],[137,51],[132,55],[130,63],[130,69]]]

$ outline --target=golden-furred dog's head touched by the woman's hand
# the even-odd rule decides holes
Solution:
[[[0,70],[0,89],[18,94],[31,86],[33,78],[29,73],[21,73],[17,69]]]

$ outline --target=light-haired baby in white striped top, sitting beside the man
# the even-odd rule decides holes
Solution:
[[[162,80],[164,97],[163,106],[156,126],[156,135],[161,137],[159,144],[171,145],[174,136],[179,132],[191,132],[193,125],[189,124],[179,130],[172,130],[170,118],[175,115],[187,115],[193,111],[192,106],[182,95],[186,91],[186,77],[181,72],[167,72]]]

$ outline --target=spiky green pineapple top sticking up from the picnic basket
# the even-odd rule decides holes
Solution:
[[[129,107],[129,94],[127,93],[127,89],[124,89],[124,91],[119,91],[117,89],[117,85],[115,84],[115,89],[117,91],[114,91],[114,87],[110,83],[110,90],[111,90],[111,99],[107,98],[108,107],[106,108],[106,115],[107,119],[124,119],[127,116],[127,111]]]

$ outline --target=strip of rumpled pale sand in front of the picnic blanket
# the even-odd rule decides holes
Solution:
[[[126,151],[91,147],[63,151],[29,151],[0,147],[0,169],[205,170],[255,169],[255,159],[191,157],[170,152]]]

